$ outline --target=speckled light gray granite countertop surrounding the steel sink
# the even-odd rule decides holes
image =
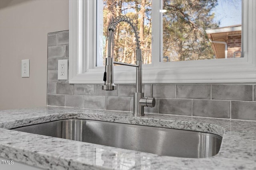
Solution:
[[[90,119],[208,132],[223,137],[220,151],[210,158],[158,156],[24,133],[11,128],[61,119]],[[111,163],[102,154],[115,152]],[[103,154],[107,156],[106,154]],[[0,111],[0,157],[47,169],[96,170],[256,170],[256,121],[145,114],[68,107],[36,107]],[[140,157],[140,161],[136,161]],[[106,158],[105,158],[106,159]]]

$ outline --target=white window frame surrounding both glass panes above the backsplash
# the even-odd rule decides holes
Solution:
[[[143,83],[251,83],[256,82],[256,1],[244,0],[243,58],[160,62],[160,12],[152,16],[152,64],[143,66]],[[152,0],[152,13],[160,3]],[[69,82],[103,84],[103,67],[95,67],[96,0],[69,1]],[[245,37],[245,38],[244,38]],[[156,57],[158,56],[158,57]],[[115,84],[135,83],[136,69],[114,66]]]

